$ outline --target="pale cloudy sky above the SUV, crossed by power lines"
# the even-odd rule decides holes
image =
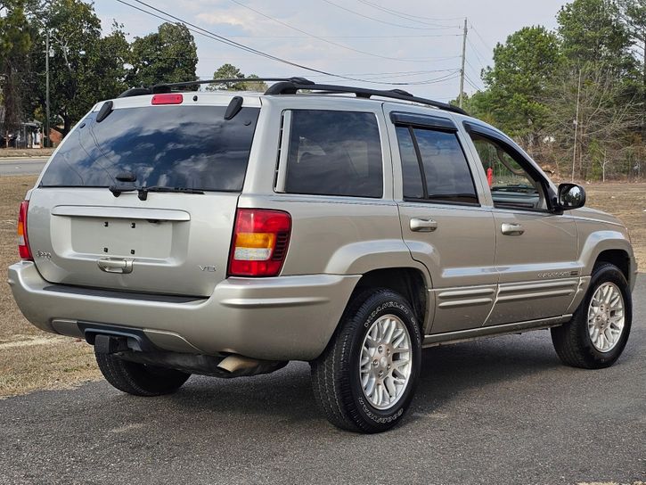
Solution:
[[[301,76],[317,82],[405,89],[437,101],[459,92],[464,18],[467,18],[468,94],[482,88],[480,71],[492,64],[493,48],[522,27],[556,27],[564,0],[124,0],[165,17],[247,45],[274,57],[355,78],[332,78],[268,60],[193,32],[197,74],[212,78],[231,63],[260,77]],[[113,20],[132,40],[159,27],[162,20],[117,0],[96,0],[105,33]],[[168,17],[166,17],[168,18]],[[391,84],[388,84],[391,83]],[[392,83],[406,83],[405,85]]]

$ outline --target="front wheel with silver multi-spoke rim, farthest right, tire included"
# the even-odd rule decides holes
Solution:
[[[590,287],[568,324],[552,328],[552,342],[568,366],[612,366],[628,341],[632,300],[626,277],[606,263],[594,268]]]

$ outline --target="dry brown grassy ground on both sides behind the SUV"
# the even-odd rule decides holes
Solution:
[[[16,218],[36,176],[0,177],[0,269],[18,260]],[[630,230],[646,270],[646,183],[587,184],[587,205],[611,212]],[[83,341],[43,333],[20,314],[7,284],[0,284],[0,399],[36,389],[99,379],[92,349]]]

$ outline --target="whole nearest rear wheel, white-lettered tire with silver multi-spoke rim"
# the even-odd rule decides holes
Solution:
[[[364,292],[311,363],[315,399],[339,428],[384,432],[409,407],[420,365],[421,334],[408,301],[390,290]]]

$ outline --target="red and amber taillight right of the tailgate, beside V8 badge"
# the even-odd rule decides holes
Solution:
[[[229,255],[230,276],[275,276],[290,243],[291,217],[282,210],[239,209]]]

